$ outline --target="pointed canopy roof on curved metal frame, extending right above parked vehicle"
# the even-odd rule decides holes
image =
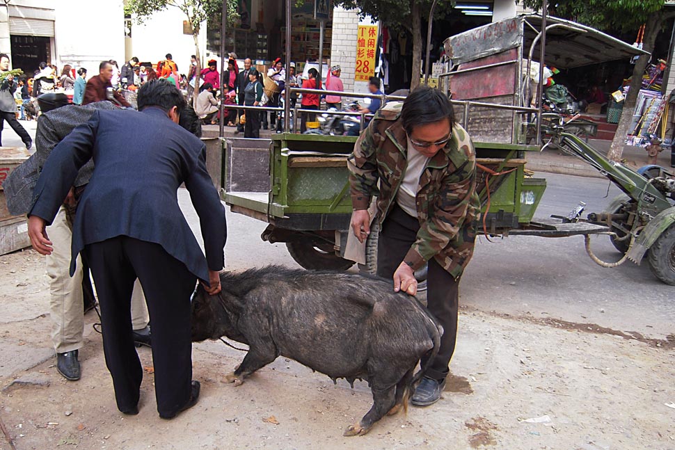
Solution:
[[[541,15],[524,15],[523,31],[525,47],[523,57],[527,58],[530,46],[537,33],[541,31]],[[551,24],[565,24],[574,29],[554,27],[546,31],[546,64],[559,69],[571,69],[617,59],[632,58],[636,55],[649,54],[637,49],[622,40],[598,31],[589,26],[546,17],[547,28]],[[532,59],[539,61],[539,45],[534,49]]]

